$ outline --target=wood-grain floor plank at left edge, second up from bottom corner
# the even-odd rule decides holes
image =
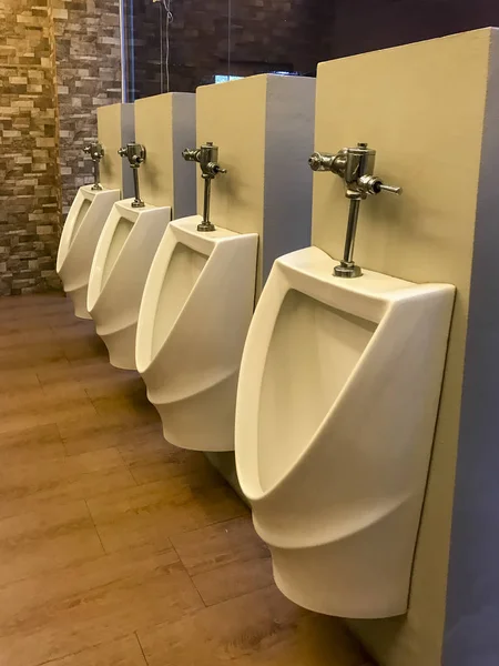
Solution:
[[[102,552],[84,502],[3,518],[0,521],[0,585],[77,564]],[[9,612],[7,607],[4,610]]]

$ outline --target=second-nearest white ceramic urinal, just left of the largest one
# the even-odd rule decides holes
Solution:
[[[169,442],[230,451],[258,236],[198,232],[200,222],[175,220],[164,234],[144,290],[136,367]]]

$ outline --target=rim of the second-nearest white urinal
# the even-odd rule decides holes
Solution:
[[[156,281],[156,293],[155,293],[155,297],[154,297],[154,303],[153,305],[149,304],[149,312],[147,312],[147,319],[149,322],[151,323],[151,337],[149,337],[147,335],[147,344],[140,344],[140,341],[142,341],[144,333],[143,331],[145,330],[145,323],[143,319],[145,317],[145,314],[143,314],[143,312],[145,313],[145,300],[142,301],[141,304],[141,309],[139,312],[139,320],[138,320],[138,336],[136,336],[136,347],[135,347],[135,362],[136,362],[136,367],[138,367],[138,372],[140,374],[145,374],[147,373],[147,371],[151,369],[151,366],[153,365],[153,363],[156,361],[157,356],[163,352],[165,345],[167,344],[167,342],[170,341],[170,337],[173,333],[173,331],[175,330],[179,321],[181,320],[182,315],[185,313],[185,310],[189,305],[189,302],[191,301],[192,296],[194,295],[195,291],[198,290],[198,284],[201,282],[201,279],[203,276],[203,274],[210,270],[208,264],[213,264],[214,262],[214,255],[218,249],[218,252],[221,251],[220,249],[223,248],[224,245],[226,245],[227,243],[237,241],[240,239],[248,239],[252,236],[255,236],[256,239],[258,238],[257,233],[251,232],[251,233],[238,233],[238,232],[233,232],[230,229],[224,229],[222,226],[218,226],[215,232],[200,232],[197,231],[197,229],[190,229],[191,225],[195,225],[197,226],[197,223],[201,220],[201,215],[190,215],[189,218],[181,218],[180,220],[172,220],[172,222],[169,224],[165,234],[160,243],[160,246],[157,248],[157,252],[154,256],[153,263],[151,265],[151,271],[149,273],[147,276],[147,281],[145,283],[145,287],[144,287],[144,294],[146,293],[147,289],[149,289],[149,282],[152,280]],[[226,233],[227,235],[218,235],[221,232]],[[216,234],[216,235],[215,235]],[[171,251],[169,253],[169,258],[167,258],[167,262],[164,265],[163,271],[160,273],[157,273],[157,275],[155,275],[155,264],[156,262],[160,262],[160,255],[161,255],[161,250],[162,250],[162,244],[164,243],[165,245],[171,241],[173,236],[173,240],[175,241],[174,243],[172,243],[172,248]],[[182,238],[184,236],[184,238]],[[193,242],[197,241],[197,243],[201,245],[205,245],[205,248],[203,250],[200,250],[198,248],[195,248],[191,244],[189,244],[189,241],[192,240]],[[193,251],[193,252],[197,252],[198,254],[203,254],[204,256],[206,256],[206,262],[201,271],[201,273],[198,274],[193,287],[191,289],[191,291],[189,292],[187,297],[185,299],[185,301],[182,304],[182,307],[179,310],[176,317],[173,320],[173,323],[170,327],[170,331],[167,333],[167,335],[164,337],[163,342],[161,343],[161,346],[157,349],[156,353],[154,355],[152,355],[152,336],[153,336],[153,332],[154,332],[154,323],[155,323],[155,317],[156,317],[156,313],[157,313],[157,304],[159,304],[159,300],[161,296],[161,292],[163,289],[163,284],[164,284],[164,280],[166,278],[166,273],[169,271],[172,258],[173,258],[173,253],[176,249],[176,246],[181,244],[184,245],[185,248],[187,248],[189,250]],[[206,254],[206,251],[208,251],[208,254]],[[164,258],[161,258],[162,260]],[[141,347],[150,347],[151,349],[151,353],[147,354],[149,360],[146,362],[146,364],[143,363],[139,363],[139,351]],[[142,353],[142,351],[140,352]],[[224,380],[225,381],[225,380]]]

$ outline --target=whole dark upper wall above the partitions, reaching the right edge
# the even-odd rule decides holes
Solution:
[[[125,17],[133,14],[130,99],[157,94],[161,2],[124,4]],[[192,92],[226,73],[227,8],[227,0],[172,0],[172,90]],[[497,0],[232,0],[231,71],[248,75],[282,67],[314,74],[323,60],[498,24]]]

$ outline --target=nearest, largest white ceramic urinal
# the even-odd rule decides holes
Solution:
[[[317,248],[278,259],[241,366],[235,448],[282,592],[306,608],[407,608],[455,290]]]

